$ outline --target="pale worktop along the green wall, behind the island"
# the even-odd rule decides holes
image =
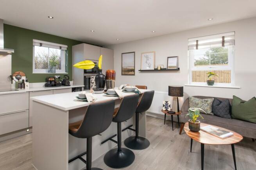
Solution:
[[[23,92],[29,92],[29,91],[44,91],[44,90],[54,90],[54,89],[68,89],[68,88],[77,88],[77,87],[84,87],[84,85],[70,85],[70,86],[59,86],[59,87],[44,87],[44,86],[39,86],[39,87],[30,87],[29,89],[20,89],[16,91],[1,91],[0,95],[2,94],[9,94],[9,93],[23,93]]]

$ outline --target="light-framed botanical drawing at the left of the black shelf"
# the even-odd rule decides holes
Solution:
[[[155,52],[141,53],[141,70],[155,69]]]

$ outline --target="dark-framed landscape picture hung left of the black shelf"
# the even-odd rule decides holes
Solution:
[[[122,53],[122,75],[135,75],[135,52]]]

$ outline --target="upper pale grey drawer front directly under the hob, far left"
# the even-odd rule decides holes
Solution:
[[[0,114],[29,109],[29,92],[0,94]]]

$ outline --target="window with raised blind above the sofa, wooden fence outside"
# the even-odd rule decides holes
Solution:
[[[235,32],[188,39],[189,84],[204,85],[214,72],[215,85],[234,85]]]

